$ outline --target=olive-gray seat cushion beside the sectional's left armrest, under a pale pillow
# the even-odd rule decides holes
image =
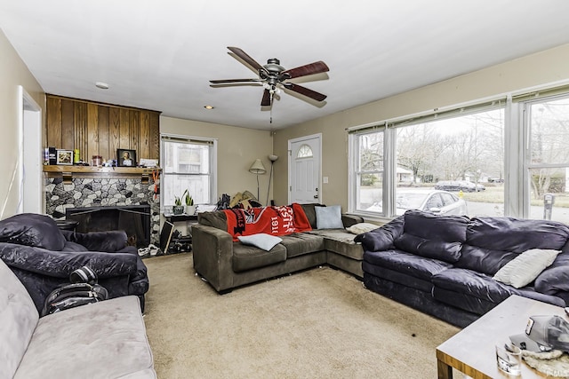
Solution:
[[[233,242],[232,265],[234,272],[244,272],[254,268],[275,265],[286,260],[286,248],[282,244],[276,245],[269,251]]]

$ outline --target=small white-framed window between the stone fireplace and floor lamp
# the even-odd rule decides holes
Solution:
[[[186,189],[195,204],[215,199],[216,146],[214,139],[162,135],[162,177],[160,196],[163,207],[174,204]]]

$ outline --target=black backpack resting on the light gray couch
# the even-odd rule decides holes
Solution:
[[[97,274],[90,267],[71,272],[69,280],[71,284],[55,288],[47,296],[40,317],[108,299],[107,289],[97,284]]]

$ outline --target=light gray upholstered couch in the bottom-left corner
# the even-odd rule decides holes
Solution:
[[[156,378],[137,296],[39,318],[0,260],[0,378]]]

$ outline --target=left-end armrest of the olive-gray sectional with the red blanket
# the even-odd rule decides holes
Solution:
[[[194,269],[215,290],[233,288],[233,237],[213,226],[192,225]]]

